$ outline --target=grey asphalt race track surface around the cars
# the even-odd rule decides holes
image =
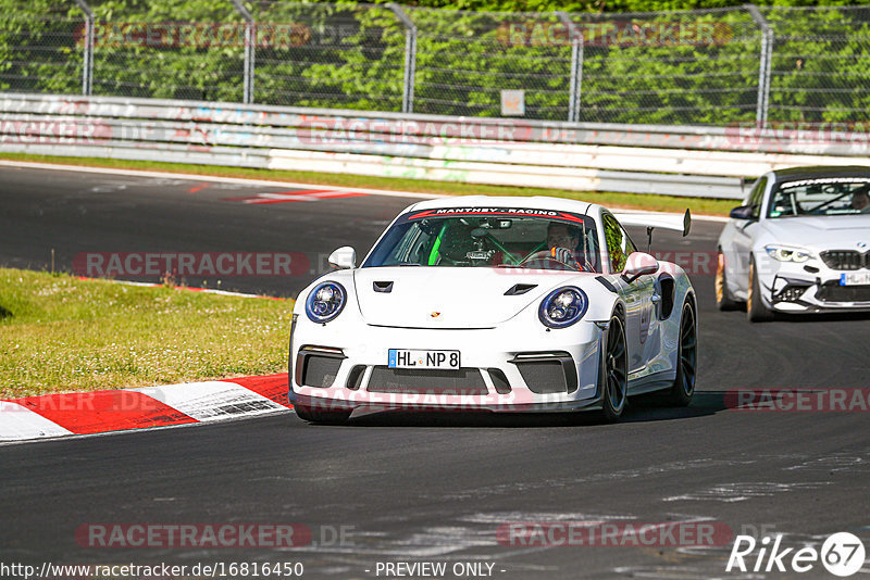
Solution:
[[[59,269],[70,269],[82,252],[316,256],[346,243],[364,252],[411,201],[244,204],[223,200],[278,189],[196,187],[2,168],[0,264],[45,268],[52,248]],[[687,239],[660,235],[655,247],[711,251],[720,228],[696,222]],[[221,286],[295,295],[310,279],[238,277]],[[395,578],[376,576],[377,563],[415,562],[447,563],[443,578],[458,578],[450,567],[464,562],[494,564],[493,577],[504,579],[834,578],[819,564],[804,575],[725,572],[730,542],[693,549],[497,541],[508,522],[704,520],[733,533],[782,533],[784,547],[818,549],[826,535],[850,531],[870,552],[870,415],[735,411],[723,396],[742,388],[866,388],[870,319],[749,325],[744,313],[714,310],[711,274],[696,272],[693,281],[700,360],[688,408],[633,404],[617,425],[380,414],[314,427],[282,414],[0,446],[0,562],[301,562],[309,578]],[[74,531],[94,522],[297,522],[312,530],[316,545],[83,547]],[[345,542],[331,544],[331,530],[341,526],[349,527]],[[857,577],[868,573],[865,564]]]

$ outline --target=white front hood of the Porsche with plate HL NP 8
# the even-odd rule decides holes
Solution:
[[[366,324],[493,328],[559,286],[588,274],[512,268],[397,266],[353,270]]]

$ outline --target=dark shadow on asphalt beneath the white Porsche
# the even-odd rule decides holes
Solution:
[[[661,406],[660,395],[639,395],[629,401],[620,424],[689,419],[725,411],[724,391],[698,391],[687,407]],[[602,427],[605,423],[595,411],[582,413],[487,413],[487,412],[428,412],[390,411],[356,416],[348,427],[504,427],[554,428]]]

